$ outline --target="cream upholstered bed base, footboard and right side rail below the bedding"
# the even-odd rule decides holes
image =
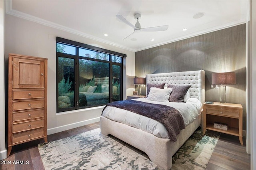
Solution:
[[[100,130],[104,135],[112,134],[124,142],[145,152],[150,160],[161,168],[169,170],[172,167],[172,156],[201,125],[201,116],[189,124],[178,134],[176,142],[168,138],[159,138],[138,128],[100,117]]]

